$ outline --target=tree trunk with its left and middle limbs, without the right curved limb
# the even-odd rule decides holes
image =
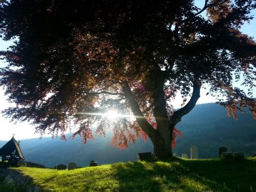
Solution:
[[[140,107],[138,106],[128,83],[124,85],[123,91],[131,104],[132,112],[142,130],[149,136],[154,145],[154,156],[159,159],[166,159],[172,156],[172,129],[166,111],[166,100],[164,99],[163,82],[159,85],[160,90],[154,94],[154,117],[157,129],[145,119]]]

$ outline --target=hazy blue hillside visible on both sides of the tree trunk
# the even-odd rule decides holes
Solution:
[[[256,152],[256,121],[246,110],[245,114],[238,114],[238,120],[227,116],[227,110],[218,104],[198,104],[177,125],[184,134],[178,139],[173,153],[177,156],[190,154],[190,146],[198,147],[199,158],[218,157],[218,148],[225,146],[229,151],[245,151],[247,156]],[[153,151],[149,141],[138,139],[131,143],[129,149],[119,150],[109,146],[111,134],[106,137],[96,137],[83,145],[80,137],[62,141],[52,139],[25,139],[20,141],[25,159],[54,167],[57,164],[75,162],[79,166],[89,165],[90,160],[99,164],[127,162],[137,160],[138,152]],[[0,147],[6,141],[0,141]]]

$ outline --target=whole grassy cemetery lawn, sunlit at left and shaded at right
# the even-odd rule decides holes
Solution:
[[[240,163],[219,159],[128,162],[73,171],[28,167],[13,169],[32,177],[43,190],[256,190],[256,158]]]

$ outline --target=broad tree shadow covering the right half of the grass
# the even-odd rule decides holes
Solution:
[[[113,164],[122,190],[251,191],[256,189],[256,162],[219,160]],[[250,169],[250,170],[249,170]]]

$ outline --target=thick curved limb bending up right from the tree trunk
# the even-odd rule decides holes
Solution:
[[[192,97],[190,98],[189,102],[179,110],[175,111],[174,114],[171,116],[171,124],[175,126],[177,123],[181,121],[181,117],[188,114],[196,105],[199,97],[200,97],[200,89],[201,89],[201,82],[194,82],[193,83],[193,93]]]

